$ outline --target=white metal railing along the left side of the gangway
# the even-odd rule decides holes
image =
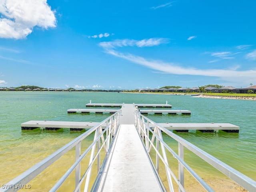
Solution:
[[[104,121],[100,122],[98,125],[94,126],[93,128],[87,130],[82,135],[78,136],[38,164],[32,166],[27,171],[23,172],[10,182],[8,182],[5,186],[10,186],[9,188],[6,187],[4,192],[13,192],[18,191],[20,188],[18,186],[26,185],[30,180],[35,178],[38,174],[44,171],[48,166],[56,162],[61,156],[66,154],[72,148],[76,148],[76,161],[72,166],[68,169],[68,171],[58,180],[58,182],[52,187],[50,190],[54,192],[60,188],[60,186],[64,183],[64,181],[70,176],[70,174],[75,170],[75,189],[74,192],[80,192],[80,187],[82,182],[85,181],[84,191],[88,191],[89,182],[90,182],[90,175],[92,171],[92,165],[96,161],[97,162],[97,169],[98,172],[100,170],[100,151],[104,149],[106,156],[108,155],[110,145],[112,139],[114,138],[119,125],[119,111],[106,118]],[[104,128],[104,130],[102,129]],[[94,140],[92,144],[81,154],[81,141],[87,138],[90,134],[94,132]],[[100,142],[100,140],[102,142]],[[101,145],[100,145],[101,144]],[[88,168],[84,172],[81,177],[81,167],[80,163],[82,159],[91,151],[90,154],[90,162]],[[96,154],[95,154],[96,152]]]

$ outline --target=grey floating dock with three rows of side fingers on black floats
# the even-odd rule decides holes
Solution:
[[[68,113],[91,113],[95,112],[103,114],[103,113],[116,113],[118,110],[122,110],[120,114],[120,124],[134,124],[135,118],[133,118],[134,113],[138,110],[138,107],[166,107],[171,105],[167,104],[96,104],[90,103],[86,104],[90,106],[121,106],[121,109],[69,109]],[[142,114],[184,114],[190,115],[191,111],[189,110],[140,110]],[[70,131],[80,131],[83,129],[90,129],[96,126],[98,122],[68,122],[68,121],[28,121],[21,124],[22,130],[33,130],[35,128],[45,128],[45,130],[58,130],[60,128],[69,128]],[[232,125],[229,123],[158,123],[168,130],[175,130],[176,132],[188,132],[188,130],[199,130],[201,132],[214,132],[216,130],[222,130],[230,133],[238,133],[239,126]],[[106,128],[106,126],[102,126],[102,128]],[[154,129],[154,127],[150,127]]]

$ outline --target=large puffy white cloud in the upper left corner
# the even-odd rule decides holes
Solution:
[[[35,26],[56,27],[54,11],[46,0],[1,0],[0,38],[26,38]]]

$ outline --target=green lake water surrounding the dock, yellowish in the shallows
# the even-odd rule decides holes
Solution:
[[[0,185],[7,183],[81,134],[81,132],[70,132],[68,129],[57,132],[40,129],[22,131],[21,123],[29,120],[101,122],[109,116],[109,114],[67,114],[70,108],[85,108],[85,104],[90,100],[95,103],[148,104],[165,104],[168,101],[172,109],[190,110],[191,116],[148,115],[147,117],[155,122],[219,122],[240,126],[239,134],[222,131],[207,134],[193,130],[178,135],[256,180],[255,101],[162,94],[4,91],[0,92]],[[168,142],[169,138],[166,136],[165,140]],[[170,140],[170,144],[172,142]],[[176,148],[176,145],[173,146]],[[186,154],[185,159],[193,168],[197,168],[200,172],[211,169],[197,160],[194,155],[189,152]],[[54,173],[50,171],[43,173],[40,182],[32,183],[33,188],[38,189],[42,182],[45,191],[49,190],[49,181],[43,175],[50,174],[52,181],[57,180],[56,175],[62,173],[62,168],[70,165],[70,158],[74,159],[73,155],[64,156],[60,160],[61,163],[56,164]]]

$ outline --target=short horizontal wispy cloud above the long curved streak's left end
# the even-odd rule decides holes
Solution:
[[[165,38],[150,38],[143,40],[115,40],[110,42],[101,42],[99,45],[105,49],[116,48],[116,47],[126,47],[126,46],[137,46],[137,47],[152,47],[160,44],[168,43],[168,39]]]

